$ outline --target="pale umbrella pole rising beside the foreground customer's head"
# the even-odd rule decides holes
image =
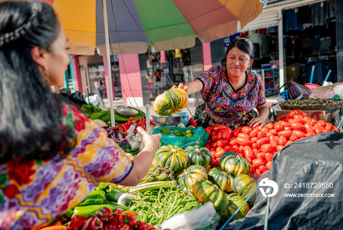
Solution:
[[[114,109],[113,109],[113,82],[112,82],[112,70],[111,70],[111,58],[110,58],[110,41],[108,36],[108,21],[107,21],[107,7],[106,0],[102,0],[103,5],[103,20],[105,24],[105,41],[106,41],[106,60],[107,60],[107,72],[108,72],[108,81],[109,81],[109,90],[110,96],[109,101],[111,105],[111,123],[112,127],[116,126],[116,121],[114,119]]]

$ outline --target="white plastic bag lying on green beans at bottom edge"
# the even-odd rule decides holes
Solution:
[[[214,209],[212,202],[203,204],[198,209],[175,214],[164,221],[160,228],[171,230],[215,230],[221,217]]]

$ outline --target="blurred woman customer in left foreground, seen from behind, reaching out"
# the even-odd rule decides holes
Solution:
[[[101,182],[135,186],[159,135],[130,160],[107,132],[50,92],[70,62],[63,26],[46,3],[0,3],[0,229],[29,229],[82,202]],[[138,163],[139,162],[139,163]]]

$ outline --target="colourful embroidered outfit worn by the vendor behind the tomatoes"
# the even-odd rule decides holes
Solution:
[[[199,118],[206,120],[207,117],[208,125],[247,125],[251,110],[266,103],[262,79],[254,73],[247,73],[245,85],[237,90],[228,81],[226,66],[212,67],[196,79],[203,84],[200,93],[206,102]]]

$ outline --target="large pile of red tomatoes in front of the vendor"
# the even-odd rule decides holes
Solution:
[[[336,129],[331,123],[316,121],[305,112],[294,109],[280,117],[280,121],[269,122],[261,129],[242,126],[232,130],[226,125],[207,127],[205,131],[210,138],[205,147],[211,151],[213,167],[219,167],[221,154],[233,151],[251,164],[252,174],[262,174],[270,169],[273,156],[283,147],[296,140]]]

